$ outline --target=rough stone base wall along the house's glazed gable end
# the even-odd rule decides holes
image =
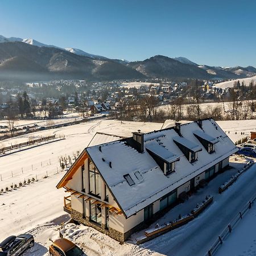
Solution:
[[[84,224],[86,226],[90,226],[90,227],[100,231],[101,233],[104,233],[107,236],[114,238],[114,240],[117,240],[119,242],[124,242],[127,239],[127,238],[125,239],[125,234],[123,234],[121,232],[118,232],[117,230],[112,229],[112,228],[105,229],[105,225],[104,224],[98,225],[98,224],[96,224],[96,223],[94,223],[92,221],[89,221],[89,217],[85,217],[84,218],[82,216],[82,213],[77,212],[76,210],[72,209],[71,218],[73,220],[81,223],[81,224]]]

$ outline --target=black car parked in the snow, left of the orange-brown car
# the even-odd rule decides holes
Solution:
[[[18,256],[34,246],[34,237],[31,234],[7,237],[0,243],[0,256]]]

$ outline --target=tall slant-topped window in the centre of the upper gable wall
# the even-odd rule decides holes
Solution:
[[[96,167],[92,163],[91,160],[89,160],[89,191],[90,194],[100,197],[100,186],[101,185],[101,177],[100,174],[98,174],[98,171],[96,170]]]

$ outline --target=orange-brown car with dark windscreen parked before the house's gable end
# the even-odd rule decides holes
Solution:
[[[60,238],[49,246],[51,256],[86,256],[85,253],[66,238]]]

